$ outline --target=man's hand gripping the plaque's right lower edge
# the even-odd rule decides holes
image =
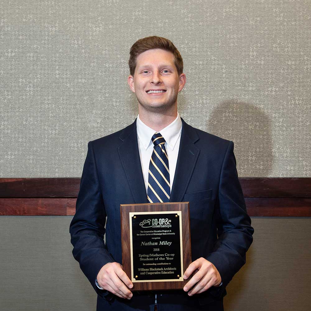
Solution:
[[[198,258],[192,262],[184,273],[183,278],[187,279],[194,271],[197,271],[183,290],[188,291],[189,296],[200,294],[211,286],[218,286],[221,283],[221,276],[216,267],[205,258]]]

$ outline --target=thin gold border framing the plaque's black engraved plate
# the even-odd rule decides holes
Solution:
[[[177,214],[179,215],[179,235],[180,235],[180,267],[181,276],[178,279],[161,279],[161,280],[136,280],[133,277],[133,239],[132,239],[132,217],[135,215],[150,215],[150,214]],[[131,281],[135,282],[180,282],[183,281],[183,233],[182,233],[182,219],[181,211],[161,211],[161,212],[129,212],[130,222],[130,247],[131,247]]]

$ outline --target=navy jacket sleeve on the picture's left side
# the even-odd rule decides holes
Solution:
[[[95,280],[100,269],[115,260],[104,243],[106,211],[100,189],[92,142],[83,166],[80,190],[76,203],[76,214],[70,224],[73,257],[79,262],[82,272],[100,296],[108,291],[100,290]],[[108,296],[106,297],[108,299]]]

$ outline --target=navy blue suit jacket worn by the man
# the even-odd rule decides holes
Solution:
[[[253,241],[233,142],[193,128],[183,119],[182,123],[170,202],[190,202],[192,260],[203,257],[212,262],[223,284],[193,297],[185,296],[182,290],[168,292],[171,306],[183,298],[198,299],[200,304],[222,299],[226,285],[244,265]],[[106,263],[122,264],[120,204],[133,203],[148,203],[136,120],[121,131],[88,143],[76,214],[70,225],[72,253],[98,294],[98,310],[108,303],[113,306],[114,300],[124,301],[126,310],[128,305],[139,307],[142,297],[151,296],[151,304],[154,299],[152,295],[118,299],[95,285]],[[160,297],[157,295],[158,303]]]

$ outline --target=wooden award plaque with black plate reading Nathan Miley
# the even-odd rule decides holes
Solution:
[[[131,290],[181,289],[191,263],[189,203],[121,204],[122,267]]]

